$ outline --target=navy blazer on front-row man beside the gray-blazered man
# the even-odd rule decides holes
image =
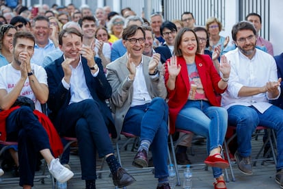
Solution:
[[[103,65],[101,64],[100,58],[94,58],[94,60],[99,67],[99,73],[96,77],[92,76],[90,68],[87,66],[87,60],[81,57],[83,71],[85,73],[85,81],[92,98],[98,103],[109,133],[111,133],[111,137],[116,138],[117,133],[113,117],[105,102],[106,99],[111,97],[112,88],[103,73]],[[49,99],[47,101],[47,105],[51,110],[51,114],[49,114],[49,116],[59,132],[62,127],[60,124],[60,118],[63,116],[62,113],[64,109],[68,107],[70,102],[70,90],[64,88],[62,84],[62,78],[64,77],[64,71],[61,66],[62,62],[64,62],[63,55],[49,66],[45,67],[49,85]],[[66,128],[66,125],[64,127]]]

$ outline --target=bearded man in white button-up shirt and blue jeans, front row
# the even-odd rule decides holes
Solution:
[[[256,49],[256,29],[243,21],[232,28],[237,49],[225,54],[231,64],[228,89],[222,95],[221,105],[228,110],[228,122],[237,127],[238,149],[235,153],[238,168],[252,174],[252,133],[258,125],[277,132],[278,164],[275,181],[283,187],[283,110],[269,103],[280,96],[275,60]],[[281,183],[280,183],[281,182]]]

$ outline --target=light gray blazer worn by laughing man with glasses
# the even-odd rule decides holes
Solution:
[[[148,64],[151,58],[146,55],[142,55],[142,58],[146,87],[148,88],[150,97],[152,99],[154,97],[165,99],[167,97],[167,90],[165,88],[163,66],[161,62],[159,62],[157,67],[159,77],[152,79],[150,75],[148,75]],[[118,58],[106,66],[107,79],[112,87],[110,103],[112,112],[115,114],[114,122],[118,136],[120,136],[124,117],[126,116],[133,99],[133,81],[128,81],[130,72],[128,68],[126,68],[127,60],[128,58],[125,53],[121,58]]]

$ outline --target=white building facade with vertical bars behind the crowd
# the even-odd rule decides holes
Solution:
[[[50,6],[73,3],[77,8],[87,4],[93,12],[105,5],[118,13],[122,8],[130,7],[138,16],[144,12],[146,18],[152,12],[160,12],[165,20],[180,19],[183,12],[192,12],[196,25],[205,25],[206,19],[214,16],[224,26],[222,36],[231,36],[234,23],[243,21],[248,13],[256,12],[262,17],[260,36],[273,44],[274,55],[283,52],[282,0],[23,0],[23,5],[27,6],[44,3]]]

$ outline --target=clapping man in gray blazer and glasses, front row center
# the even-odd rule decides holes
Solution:
[[[157,188],[170,188],[167,171],[167,96],[160,55],[143,55],[145,31],[137,25],[122,34],[126,53],[107,65],[107,79],[112,87],[111,106],[117,133],[126,131],[140,136],[133,165],[148,166],[151,145]]]

